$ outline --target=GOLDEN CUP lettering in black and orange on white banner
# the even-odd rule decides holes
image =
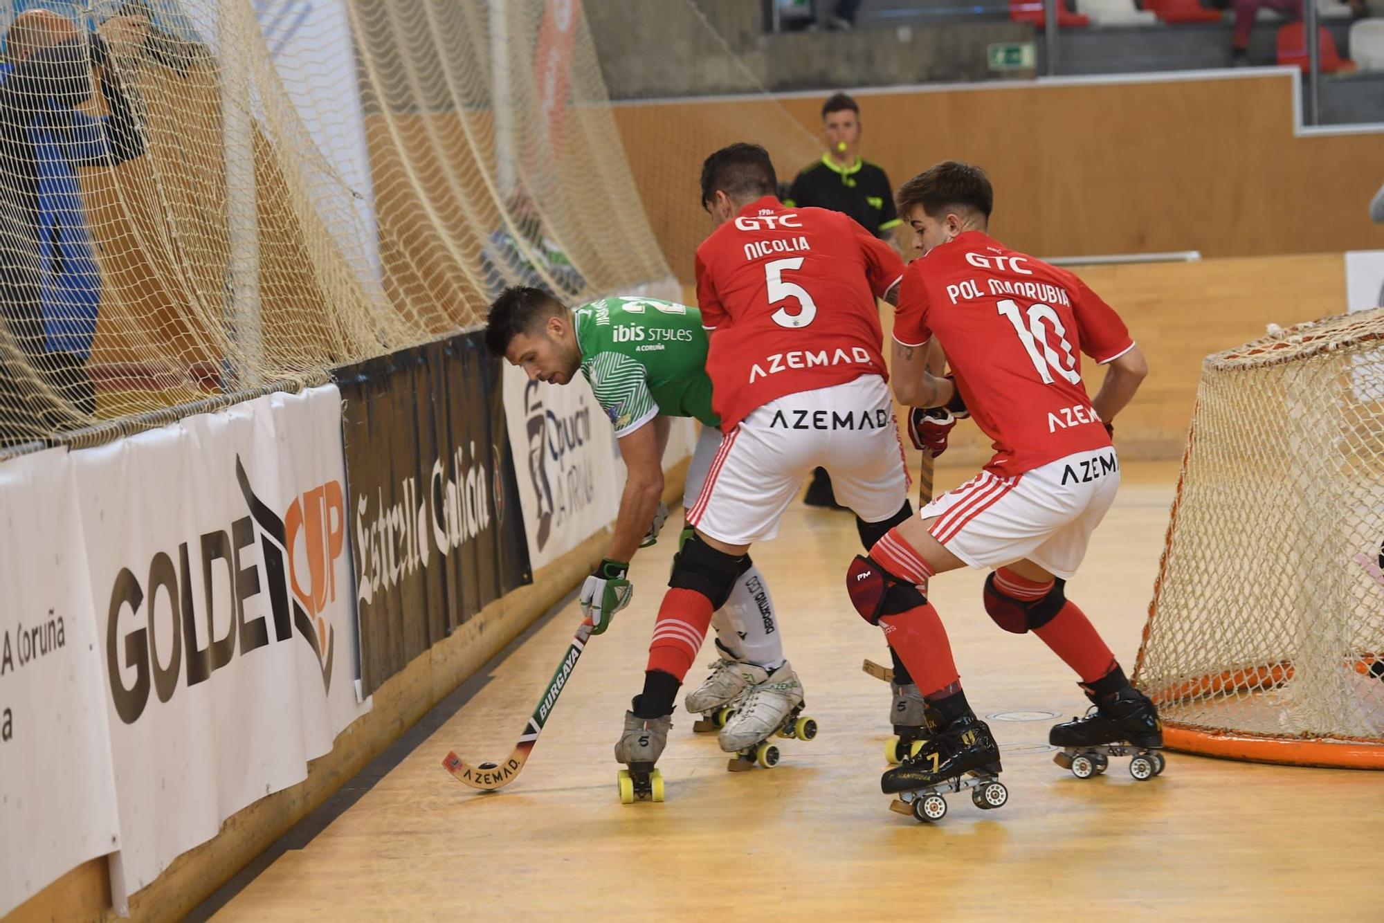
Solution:
[[[336,599],[346,534],[342,484],[317,484],[280,515],[255,494],[239,455],[235,479],[248,515],[156,551],[141,573],[122,567],[115,577],[105,655],[111,697],[125,724],[144,714],[151,688],[169,702],[183,685],[206,682],[237,656],[289,641],[295,630],[331,691],[336,637],[325,612]]]

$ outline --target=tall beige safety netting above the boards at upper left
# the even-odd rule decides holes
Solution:
[[[47,6],[0,83],[0,450],[670,277],[577,3]]]

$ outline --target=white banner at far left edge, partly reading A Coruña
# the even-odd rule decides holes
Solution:
[[[0,465],[0,916],[118,848],[82,516],[65,448]]]

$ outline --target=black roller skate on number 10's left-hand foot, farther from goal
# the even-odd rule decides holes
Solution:
[[[962,715],[901,765],[886,769],[879,787],[898,796],[890,811],[912,814],[922,822],[941,821],[947,816],[944,796],[967,789],[981,811],[1003,807],[1009,790],[999,782],[999,747],[990,726],[974,715]]]

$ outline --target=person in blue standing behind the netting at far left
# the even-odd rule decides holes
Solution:
[[[112,58],[143,54],[148,21],[113,17],[90,43],[66,17],[26,10],[6,33],[0,65],[0,317],[10,342],[69,407],[21,383],[6,350],[0,444],[25,441],[95,414],[86,368],[95,336],[101,274],[78,185],[78,167],[113,166],[144,152],[144,137]],[[109,115],[78,109],[93,95],[93,69]],[[28,408],[26,421],[12,419]]]

